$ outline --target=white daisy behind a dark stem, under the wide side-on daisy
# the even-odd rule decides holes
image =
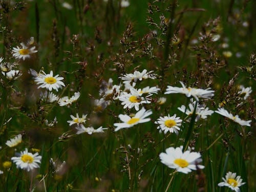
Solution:
[[[185,113],[188,116],[191,116],[195,110],[195,106],[196,106],[196,101],[193,101],[193,99],[191,99],[191,103],[188,104],[189,109],[186,109],[186,106],[182,105],[181,107],[178,108],[178,110],[180,110],[181,112]],[[186,109],[186,111],[185,111],[185,109]],[[200,118],[206,119],[207,116],[211,115],[212,113],[214,113],[214,111],[209,110],[209,108],[197,106],[195,121],[198,121]]]

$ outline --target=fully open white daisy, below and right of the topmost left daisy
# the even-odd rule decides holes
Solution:
[[[52,89],[58,91],[58,89],[65,87],[65,84],[61,81],[64,79],[63,77],[58,77],[59,75],[53,76],[53,72],[51,71],[50,74],[46,74],[44,71],[41,71],[37,77],[35,77],[34,81],[36,84],[41,84],[39,88],[46,88],[49,91]]]

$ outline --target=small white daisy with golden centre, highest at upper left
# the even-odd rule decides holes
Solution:
[[[12,55],[16,59],[25,60],[26,58],[30,58],[30,54],[37,52],[37,50],[35,50],[35,46],[28,48],[23,42],[20,45],[22,46],[22,48],[19,48],[18,46],[17,48],[12,48]]]

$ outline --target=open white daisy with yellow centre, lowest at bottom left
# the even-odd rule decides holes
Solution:
[[[34,168],[38,168],[41,163],[41,156],[38,153],[32,154],[25,148],[24,152],[20,152],[19,157],[12,157],[11,160],[16,163],[17,168],[26,169],[28,172]]]

